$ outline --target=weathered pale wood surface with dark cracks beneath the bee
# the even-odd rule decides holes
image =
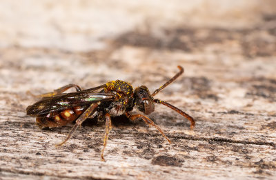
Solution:
[[[0,179],[276,178],[273,1],[236,1],[228,8],[221,1],[221,14],[214,14],[213,1],[187,9],[179,1],[35,2],[1,4]],[[184,75],[157,97],[195,117],[195,130],[161,105],[149,116],[172,145],[155,128],[120,117],[112,119],[101,162],[103,123],[86,122],[56,148],[72,124],[40,130],[26,116],[36,101],[28,90],[121,79],[153,91],[177,65]]]

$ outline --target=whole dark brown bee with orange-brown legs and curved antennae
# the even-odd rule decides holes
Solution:
[[[179,108],[172,106],[166,101],[154,99],[155,94],[172,83],[184,72],[181,66],[178,66],[178,68],[180,71],[152,94],[150,94],[146,86],[139,86],[133,90],[130,83],[121,80],[110,81],[87,90],[81,90],[79,86],[69,84],[54,90],[54,92],[41,94],[39,96],[42,97],[40,101],[34,103],[32,106],[28,106],[27,114],[37,117],[39,128],[61,127],[76,120],[66,139],[57,144],[57,146],[61,146],[70,139],[73,132],[87,118],[97,117],[100,121],[106,120],[106,133],[103,139],[103,150],[101,151],[102,161],[104,161],[103,152],[111,130],[110,117],[116,117],[121,114],[125,114],[130,121],[135,121],[136,119],[144,120],[148,125],[157,128],[170,143],[170,139],[166,137],[164,132],[152,120],[143,114],[130,114],[130,112],[136,107],[139,111],[148,115],[155,110],[155,103],[161,103],[188,119],[190,121],[190,129],[193,129],[195,126],[193,117],[190,117],[186,112],[179,110]],[[63,93],[69,88],[75,88],[77,92]]]

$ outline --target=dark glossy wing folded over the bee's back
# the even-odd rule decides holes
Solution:
[[[44,97],[37,103],[28,106],[28,115],[45,114],[59,110],[65,110],[75,106],[84,106],[99,101],[110,101],[115,98],[112,92],[91,92],[82,90],[67,94],[57,94],[54,97]]]

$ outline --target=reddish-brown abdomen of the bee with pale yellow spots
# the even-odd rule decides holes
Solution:
[[[65,126],[67,123],[75,121],[86,108],[88,106],[76,106],[66,110],[40,114],[37,116],[37,125],[41,129]]]

